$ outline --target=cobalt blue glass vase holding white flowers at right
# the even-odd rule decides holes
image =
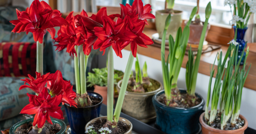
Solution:
[[[236,26],[233,26],[234,28],[234,31],[236,32]],[[244,29],[237,29],[237,34],[236,34],[236,42],[239,43],[239,45],[237,46],[238,47],[238,58],[237,58],[237,62],[239,61],[240,57],[242,56],[242,60],[241,60],[241,63],[240,65],[243,65],[244,64],[244,58],[245,58],[245,54],[246,52],[243,52],[243,49],[244,47],[246,47],[246,41],[244,41],[244,35],[245,35],[245,32],[247,30],[247,27],[244,28]]]

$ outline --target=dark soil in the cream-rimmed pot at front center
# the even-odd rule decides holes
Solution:
[[[102,128],[102,126],[104,124],[106,124],[106,122],[107,122],[107,119],[99,119],[99,120],[95,121],[94,123],[89,124],[89,126],[92,125],[94,127],[92,129],[95,130],[95,132],[97,132],[97,134],[101,134],[101,132],[99,132],[98,130],[100,128]],[[117,127],[118,127],[118,134],[124,134],[130,129],[130,127],[122,121],[117,122]]]

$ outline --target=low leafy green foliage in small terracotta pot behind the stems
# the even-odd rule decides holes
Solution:
[[[87,82],[89,86],[99,85],[99,86],[107,86],[107,76],[108,76],[108,69],[107,67],[104,68],[93,68],[94,73],[88,72]],[[121,79],[117,73],[114,74],[114,84],[117,84],[117,80]]]

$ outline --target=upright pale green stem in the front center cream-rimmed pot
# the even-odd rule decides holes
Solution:
[[[114,109],[114,57],[112,46],[108,47],[108,93],[107,93],[107,119],[113,122]]]

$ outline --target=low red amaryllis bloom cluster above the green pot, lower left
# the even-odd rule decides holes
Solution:
[[[63,80],[59,70],[42,76],[36,72],[36,75],[36,79],[30,75],[28,75],[30,79],[22,79],[25,83],[19,90],[28,87],[35,91],[38,96],[27,93],[30,104],[26,105],[20,113],[36,114],[33,126],[37,124],[39,128],[42,128],[46,120],[52,124],[50,116],[63,119],[63,113],[58,106],[61,102],[76,107],[77,104],[74,101],[76,93],[72,90],[73,86],[70,81]],[[25,85],[26,83],[29,85]],[[45,87],[46,84],[47,87]]]

